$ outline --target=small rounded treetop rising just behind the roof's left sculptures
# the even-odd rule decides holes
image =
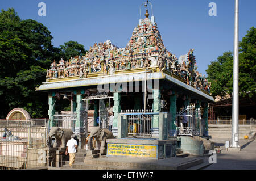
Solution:
[[[83,56],[86,54],[84,45],[77,43],[77,41],[68,41],[64,45],[60,45],[61,56],[65,61],[68,61],[73,56]]]

